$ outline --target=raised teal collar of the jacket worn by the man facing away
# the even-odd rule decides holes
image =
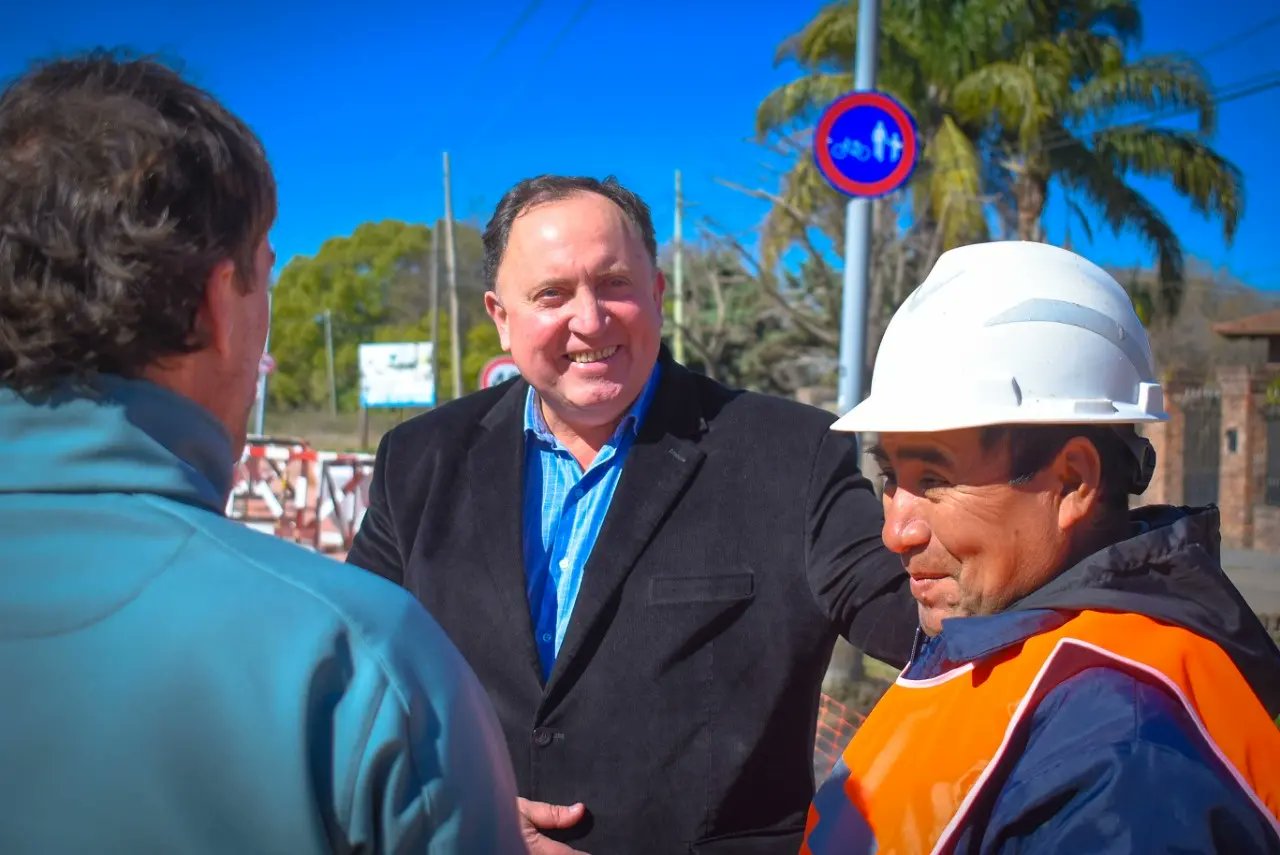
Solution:
[[[40,396],[0,387],[0,493],[150,493],[221,512],[236,456],[204,407],[104,375]]]

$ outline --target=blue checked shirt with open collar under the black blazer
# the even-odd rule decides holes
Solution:
[[[617,430],[582,471],[547,426],[538,393],[525,398],[525,586],[534,641],[550,676],[627,452],[658,388],[658,366]]]

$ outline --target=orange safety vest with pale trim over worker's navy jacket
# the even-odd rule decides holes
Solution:
[[[1176,698],[1280,835],[1280,730],[1226,653],[1140,614],[1080,612],[937,677],[899,677],[845,750],[844,799],[823,833],[809,809],[801,855],[950,852],[979,797],[1001,787],[1037,704],[1097,667]]]

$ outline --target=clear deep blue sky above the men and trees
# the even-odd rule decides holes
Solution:
[[[890,0],[891,1],[891,0]],[[221,3],[46,0],[9,4],[0,79],[33,59],[129,46],[178,59],[186,73],[262,137],[280,187],[271,233],[282,265],[329,237],[387,218],[443,212],[440,152],[453,160],[460,219],[483,224],[526,175],[617,174],[672,232],[672,172],[692,205],[746,237],[762,202],[717,183],[776,187],[751,141],[755,106],[796,76],[777,44],[815,0],[498,0],[495,3]],[[1280,69],[1275,0],[1148,0],[1140,52],[1201,59],[1216,88]],[[518,24],[518,26],[517,26]],[[1206,50],[1213,49],[1206,54]],[[1245,175],[1233,246],[1172,191],[1140,184],[1190,256],[1280,291],[1280,88],[1221,105],[1215,145]],[[1065,216],[1051,206],[1048,230]],[[686,236],[690,232],[686,227]],[[1132,237],[1100,228],[1076,247],[1142,265]]]

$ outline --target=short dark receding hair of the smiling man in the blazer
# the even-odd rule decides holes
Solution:
[[[577,193],[595,193],[603,196],[622,209],[627,219],[640,229],[640,239],[649,252],[649,260],[658,262],[658,239],[653,232],[653,216],[644,200],[628,191],[609,175],[604,180],[595,178],[580,178],[570,175],[538,175],[526,178],[507,193],[494,209],[489,224],[484,228],[484,282],[486,288],[494,288],[498,283],[498,265],[507,251],[507,239],[511,237],[511,227],[516,218],[534,207],[547,202],[558,202],[562,198]]]

